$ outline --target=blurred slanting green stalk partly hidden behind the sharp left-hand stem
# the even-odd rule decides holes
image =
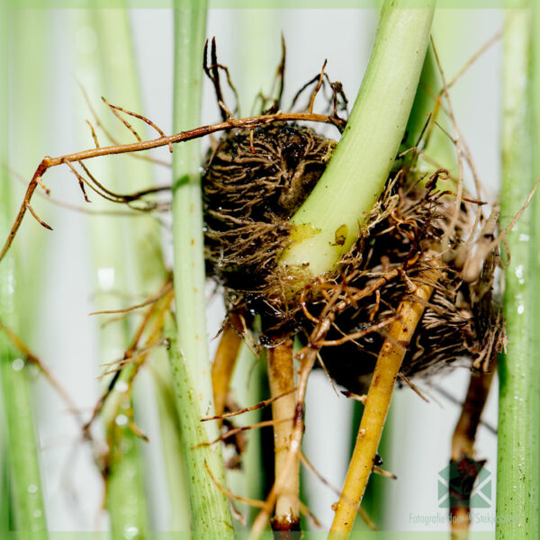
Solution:
[[[107,98],[130,111],[142,112],[128,12],[125,9],[98,9],[94,10],[94,20],[99,28],[100,51],[105,73],[114,74],[107,77]],[[120,125],[115,119],[114,121],[117,126]],[[131,119],[129,121],[136,125],[141,135],[144,134],[146,126],[141,126],[142,122],[136,124],[136,121]],[[118,129],[115,131],[119,132]],[[120,134],[122,139],[132,137],[123,126]],[[151,136],[154,137],[155,132],[152,132]],[[121,174],[127,179],[127,182],[123,183],[124,191],[134,192],[153,184],[149,163],[140,159],[133,157],[123,159]],[[157,220],[151,217],[130,220],[124,223],[124,235],[129,238],[126,243],[130,246],[129,249],[124,248],[124,255],[128,259],[129,270],[126,277],[130,289],[135,293],[155,293],[166,278]],[[156,399],[168,484],[171,519],[169,526],[173,530],[184,530],[189,528],[190,516],[185,505],[187,493],[179,446],[178,419],[175,408],[171,408],[165,396],[159,394],[166,392],[166,395],[170,395],[173,392],[166,353],[163,350],[155,351],[150,362],[157,377]],[[164,385],[166,388],[163,388]],[[141,394],[137,396],[135,411],[137,403],[145,399],[148,400],[148,396]]]

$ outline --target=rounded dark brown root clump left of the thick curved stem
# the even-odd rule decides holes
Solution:
[[[265,294],[288,241],[288,219],[311,193],[335,144],[282,122],[233,130],[211,151],[203,174],[206,260],[231,304],[248,305]]]

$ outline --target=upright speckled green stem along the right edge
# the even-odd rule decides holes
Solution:
[[[506,227],[527,199],[532,175],[529,10],[506,14],[503,59],[501,225]],[[532,215],[525,211],[507,238],[504,311],[508,345],[500,358],[497,538],[538,538],[538,443],[540,384],[534,349],[537,330]],[[536,349],[537,350],[537,349]]]

